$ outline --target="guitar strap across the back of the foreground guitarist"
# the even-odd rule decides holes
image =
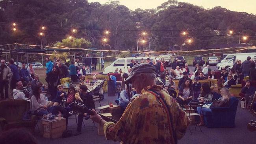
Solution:
[[[172,119],[171,112],[170,112],[170,106],[167,105],[165,99],[163,98],[163,96],[160,93],[158,93],[158,92],[156,92],[155,90],[152,90],[152,89],[147,90],[147,92],[149,92],[149,93],[153,94],[154,96],[156,96],[156,98],[163,105],[163,108],[165,109],[165,112],[166,112],[167,118],[168,118],[170,134],[173,135],[173,137],[171,137],[171,142],[172,142],[172,144],[177,144],[178,143],[178,139],[177,139],[176,133],[175,133],[174,128],[173,128],[173,119]]]

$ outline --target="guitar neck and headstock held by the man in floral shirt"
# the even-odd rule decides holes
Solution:
[[[69,107],[75,111],[78,111],[80,113],[87,113],[87,114],[90,114],[90,115],[93,115],[93,111],[91,109],[88,109],[85,105],[81,105],[81,104],[78,104],[78,103],[70,103],[69,104]],[[104,116],[100,113],[97,113],[99,114],[104,120],[106,120],[107,122],[113,122],[113,123],[117,123],[116,120],[113,120],[112,118],[109,118],[107,116]]]

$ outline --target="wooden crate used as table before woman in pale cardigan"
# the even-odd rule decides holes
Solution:
[[[41,121],[43,137],[45,138],[60,138],[62,133],[67,129],[66,118]]]

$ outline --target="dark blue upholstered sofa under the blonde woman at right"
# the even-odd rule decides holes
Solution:
[[[236,97],[231,97],[229,107],[211,107],[211,111],[204,113],[205,125],[209,128],[235,127],[238,101]]]

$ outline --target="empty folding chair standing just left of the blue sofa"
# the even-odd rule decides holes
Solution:
[[[204,104],[203,102],[190,102],[189,103],[189,114],[188,114],[188,117],[189,118],[193,118],[194,117],[195,125],[196,125],[195,126],[195,130],[197,129],[197,125],[200,123],[200,115],[202,114],[202,106],[203,106],[203,104]],[[197,107],[200,107],[200,114],[198,114],[198,113],[190,113],[191,112],[191,108],[197,109]],[[201,133],[203,133],[201,127],[199,125],[198,125],[198,127],[199,127]],[[190,131],[190,135],[192,135],[190,127],[189,127],[189,131]]]

